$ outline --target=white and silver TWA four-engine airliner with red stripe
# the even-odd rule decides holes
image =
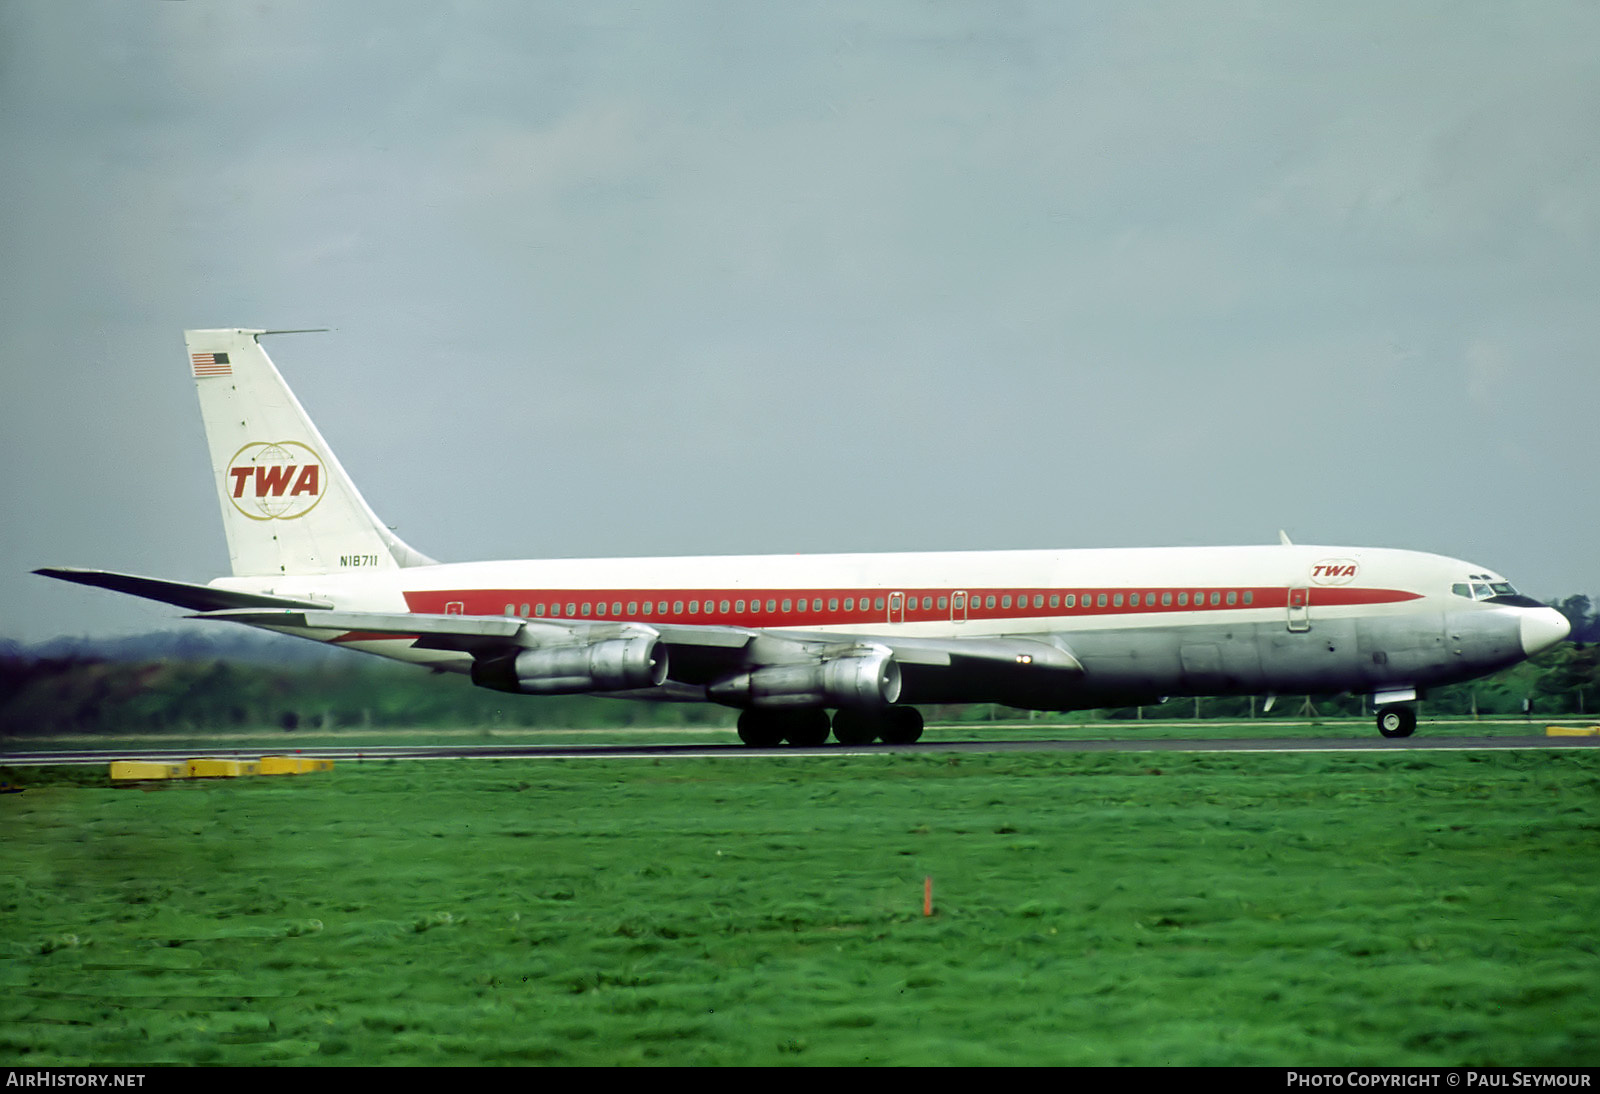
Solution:
[[[910,742],[912,704],[1075,710],[1371,694],[1512,665],[1566,619],[1483,566],[1378,547],[1166,547],[440,563],[389,531],[261,349],[186,331],[232,577],[40,569],[470,673],[485,688],[709,701],[752,745]],[[829,717],[832,710],[832,718]]]

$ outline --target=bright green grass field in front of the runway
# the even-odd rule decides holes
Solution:
[[[0,797],[6,1064],[1600,1064],[1590,750],[101,776]]]

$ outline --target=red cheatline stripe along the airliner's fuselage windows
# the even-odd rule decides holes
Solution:
[[[902,608],[891,595],[899,592]],[[949,622],[952,613],[976,619],[1072,619],[1099,616],[1168,616],[1195,611],[1283,609],[1288,590],[1282,585],[1174,585],[1174,587],[1075,587],[1075,589],[966,589],[966,611],[952,608],[952,589],[450,589],[406,592],[406,606],[416,613],[454,611],[469,616],[526,614],[534,619],[637,619],[677,624],[736,627],[826,627],[882,622]],[[1211,595],[1218,603],[1211,603]],[[1229,603],[1232,595],[1234,603]],[[944,606],[939,606],[939,598]],[[990,606],[989,598],[994,598]],[[1050,598],[1056,597],[1056,606]],[[1381,605],[1418,600],[1421,593],[1398,589],[1320,587],[1309,590],[1310,609],[1352,605]],[[1010,598],[1010,605],[1006,600]],[[1035,605],[1038,598],[1038,605]],[[1070,598],[1070,606],[1069,606]],[[1197,600],[1198,598],[1198,600]],[[782,603],[790,603],[784,611]],[[845,603],[854,601],[846,609]],[[923,608],[923,601],[928,606]],[[1200,603],[1203,600],[1203,603]],[[707,603],[709,601],[709,603]],[[742,609],[739,603],[742,601]],[[648,603],[648,611],[645,609]],[[666,603],[666,608],[661,605]],[[728,605],[723,608],[723,605]],[[773,606],[768,608],[768,603]],[[510,613],[507,613],[510,605]],[[523,608],[526,605],[526,609]],[[805,605],[802,608],[802,605]],[[589,614],[584,614],[589,606]],[[632,609],[630,609],[632,606]],[[693,609],[691,609],[693,606]],[[1299,605],[1296,605],[1299,606]],[[544,614],[539,614],[544,608]],[[603,608],[603,609],[602,609]]]

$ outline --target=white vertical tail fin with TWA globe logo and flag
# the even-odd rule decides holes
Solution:
[[[234,574],[432,563],[368,509],[261,349],[267,333],[184,331]]]

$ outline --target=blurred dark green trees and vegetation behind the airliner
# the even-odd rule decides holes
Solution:
[[[1600,713],[1600,613],[1589,597],[1552,605],[1573,622],[1573,641],[1483,680],[1429,693],[1429,715]],[[1253,697],[1173,699],[1085,718],[1262,717]],[[1363,713],[1360,696],[1317,697],[1318,715]],[[1272,717],[1307,712],[1280,696]],[[947,721],[1010,718],[973,704],[931,707]],[[198,729],[336,728],[626,728],[725,726],[734,712],[712,704],[629,702],[586,696],[507,696],[454,673],[256,632],[200,629],[104,641],[22,648],[0,643],[0,734],[189,733]]]

